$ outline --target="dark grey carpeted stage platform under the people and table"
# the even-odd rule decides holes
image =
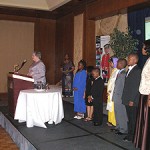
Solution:
[[[0,124],[11,135],[21,150],[137,150],[132,143],[123,142],[124,136],[115,135],[106,125],[94,127],[92,122],[73,119],[73,104],[64,101],[65,118],[58,125],[46,124],[47,129],[27,128],[0,107]]]

